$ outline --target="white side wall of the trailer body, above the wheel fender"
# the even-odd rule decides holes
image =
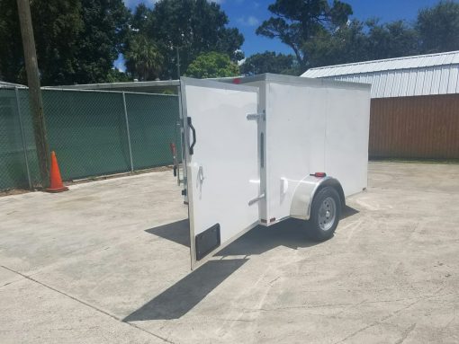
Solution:
[[[365,189],[370,85],[262,77],[244,81],[259,87],[260,110],[266,110],[266,123],[260,124],[266,137],[262,218],[269,223],[290,216],[294,191],[310,173],[337,178],[346,196]]]

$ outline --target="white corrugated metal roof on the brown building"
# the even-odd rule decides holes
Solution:
[[[372,84],[372,98],[459,93],[459,51],[324,66],[302,76]]]

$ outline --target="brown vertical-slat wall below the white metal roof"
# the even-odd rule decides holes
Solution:
[[[459,159],[459,94],[373,99],[370,158]]]

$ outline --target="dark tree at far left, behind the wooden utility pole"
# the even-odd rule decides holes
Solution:
[[[76,37],[82,31],[79,0],[31,2],[31,17],[39,59],[41,83],[72,80],[77,68]],[[4,80],[26,84],[23,42],[15,0],[0,1],[0,75]]]

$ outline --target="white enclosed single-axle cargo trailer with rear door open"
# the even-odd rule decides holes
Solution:
[[[367,186],[370,85],[285,75],[181,79],[192,269],[256,225],[333,236]]]

